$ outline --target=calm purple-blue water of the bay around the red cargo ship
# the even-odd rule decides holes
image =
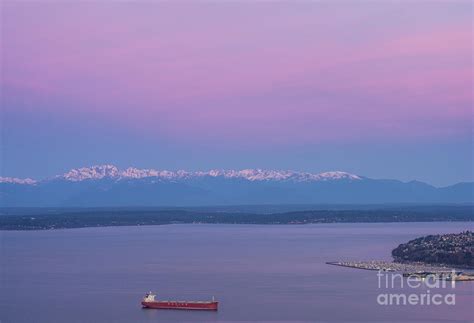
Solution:
[[[454,306],[381,306],[376,272],[325,264],[388,260],[390,250],[409,239],[469,228],[396,223],[0,232],[0,321],[473,321],[473,283],[456,284]],[[148,290],[164,299],[215,296],[221,303],[218,312],[143,310],[139,302]]]

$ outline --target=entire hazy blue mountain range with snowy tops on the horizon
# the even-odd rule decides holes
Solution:
[[[167,171],[97,165],[44,179],[0,177],[1,206],[204,206],[471,203],[473,183],[443,188],[343,171]]]

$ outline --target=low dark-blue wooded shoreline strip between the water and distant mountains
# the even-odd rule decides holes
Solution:
[[[473,221],[472,209],[443,208],[374,210],[310,210],[283,213],[243,213],[190,210],[81,210],[23,212],[0,215],[0,230],[49,230],[84,227],[165,225],[180,223],[210,224],[316,224]]]

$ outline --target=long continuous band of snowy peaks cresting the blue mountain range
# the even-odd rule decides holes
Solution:
[[[331,181],[331,180],[360,180],[361,177],[341,172],[332,171],[319,174],[296,172],[290,170],[264,170],[264,169],[243,169],[243,170],[223,170],[212,169],[209,171],[187,172],[184,170],[168,171],[155,169],[138,169],[129,167],[125,170],[119,170],[114,165],[96,165],[92,167],[83,167],[72,169],[69,172],[57,176],[56,178],[67,181],[79,182],[90,179],[142,179],[157,178],[160,180],[185,180],[204,177],[226,178],[226,179],[244,179],[248,181]]]

